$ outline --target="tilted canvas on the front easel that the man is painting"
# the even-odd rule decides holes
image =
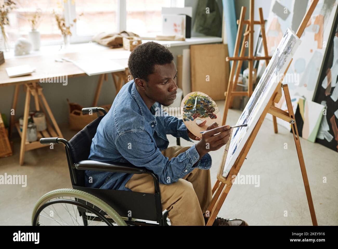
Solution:
[[[287,29],[236,124],[247,124],[248,126],[233,130],[229,150],[226,155],[223,177],[227,177],[234,165],[244,144],[262,115],[264,108],[271,99],[273,92],[278,84],[280,84],[280,75],[286,71],[299,44],[300,39],[290,29]]]

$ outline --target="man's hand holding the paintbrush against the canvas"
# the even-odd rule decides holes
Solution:
[[[209,125],[195,146],[200,158],[209,151],[218,150],[225,145],[229,141],[230,131],[229,125],[219,126],[216,122]]]

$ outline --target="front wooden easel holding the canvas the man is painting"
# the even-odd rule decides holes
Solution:
[[[296,35],[300,38],[301,35],[304,32],[304,29],[307,25],[307,23],[309,22],[309,19],[315,9],[315,7],[317,6],[319,0],[313,0],[311,3],[310,8],[308,9],[306,15],[303,18],[303,21],[301,22]],[[284,72],[284,76],[287,73],[290,65],[291,65],[292,60],[290,61],[286,71]],[[310,209],[310,215],[311,215],[311,220],[312,220],[312,224],[314,226],[317,226],[317,218],[316,218],[316,213],[314,210],[314,206],[313,206],[313,201],[312,201],[312,196],[311,196],[311,191],[310,191],[310,186],[309,186],[309,180],[308,180],[308,176],[306,173],[306,168],[305,168],[305,162],[304,162],[304,157],[303,157],[303,152],[301,150],[301,146],[300,146],[300,141],[299,141],[299,136],[298,136],[298,130],[297,130],[297,125],[296,125],[296,121],[294,118],[294,113],[293,113],[293,108],[292,108],[292,103],[291,103],[291,98],[290,98],[290,93],[289,93],[289,88],[287,85],[283,85],[282,82],[284,80],[284,76],[283,78],[280,80],[280,85],[276,87],[274,94],[271,96],[268,104],[266,105],[261,117],[259,118],[254,130],[251,132],[247,142],[245,143],[239,157],[237,158],[235,164],[232,166],[230,172],[228,173],[228,176],[226,178],[223,177],[223,170],[224,170],[224,165],[225,165],[225,160],[226,160],[226,154],[224,156],[223,154],[223,158],[221,160],[221,165],[217,174],[217,181],[213,187],[213,199],[211,201],[210,206],[208,207],[209,210],[209,219],[207,222],[207,226],[212,226],[212,224],[214,223],[216,216],[219,212],[219,210],[221,209],[225,198],[227,196],[227,194],[229,193],[233,183],[232,180],[234,179],[233,176],[238,174],[240,168],[242,167],[242,164],[246,158],[247,153],[249,152],[249,149],[252,145],[252,143],[254,142],[256,135],[264,121],[264,118],[266,116],[267,113],[270,113],[271,115],[273,115],[273,117],[277,117],[280,119],[283,119],[285,121],[288,121],[291,124],[291,128],[292,128],[292,133],[293,133],[293,138],[295,141],[295,145],[296,145],[296,150],[297,150],[297,154],[298,154],[298,160],[299,160],[299,165],[300,165],[300,170],[301,170],[301,174],[303,176],[303,182],[304,182],[304,187],[305,187],[305,192],[306,192],[306,196],[307,196],[307,200],[308,200],[308,205],[309,205],[309,209]],[[277,107],[274,106],[274,103],[278,103],[282,97],[282,88],[284,91],[284,95],[285,95],[285,100],[286,100],[286,104],[288,107],[288,112],[279,109]],[[208,212],[206,212],[206,218],[208,218]]]

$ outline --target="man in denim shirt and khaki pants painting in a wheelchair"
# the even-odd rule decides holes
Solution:
[[[128,67],[134,80],[121,88],[101,120],[88,159],[129,162],[152,170],[158,176],[162,208],[169,211],[171,224],[204,226],[204,213],[212,200],[208,152],[227,143],[230,127],[214,123],[198,139],[182,120],[163,112],[161,105],[169,106],[176,99],[177,70],[173,59],[166,47],[155,42],[144,43],[132,51]],[[168,148],[166,134],[199,142]],[[93,188],[154,193],[148,174],[86,171],[85,182]],[[247,224],[217,218],[214,225]]]

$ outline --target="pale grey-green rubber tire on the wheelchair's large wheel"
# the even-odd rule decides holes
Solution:
[[[39,201],[35,204],[33,213],[32,213],[32,225],[37,226],[39,225],[39,215],[41,212],[42,206],[48,205],[49,201],[52,201],[52,199],[55,198],[61,198],[63,196],[71,197],[71,198],[78,198],[83,201],[89,202],[90,204],[95,205],[96,207],[100,208],[102,211],[104,211],[109,217],[118,225],[118,226],[126,226],[127,224],[124,222],[122,217],[107,203],[99,199],[98,197],[81,191],[77,189],[69,189],[69,188],[63,188],[63,189],[56,189],[53,191],[50,191],[43,195]],[[55,201],[55,200],[54,200]],[[58,202],[64,203],[63,201],[72,201],[72,200],[59,200]],[[75,202],[75,201],[72,201]],[[81,203],[80,203],[81,204]],[[76,205],[76,204],[74,204]],[[83,205],[83,204],[82,204]],[[89,209],[89,208],[88,208]],[[93,212],[95,214],[95,212]],[[107,222],[106,222],[107,223]]]

